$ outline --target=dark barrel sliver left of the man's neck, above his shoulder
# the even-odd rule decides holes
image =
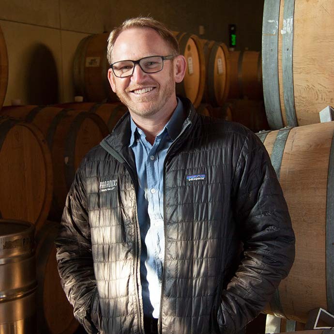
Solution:
[[[60,108],[71,108],[76,110],[85,110],[87,112],[95,113],[101,117],[108,127],[109,132],[111,132],[120,120],[120,118],[127,112],[128,108],[121,103],[63,103],[60,105],[55,105]]]

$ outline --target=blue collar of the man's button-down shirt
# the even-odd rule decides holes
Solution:
[[[183,113],[183,104],[182,101],[177,97],[178,105],[176,106],[171,118],[167,122],[167,124],[164,126],[164,128],[161,130],[160,134],[167,129],[168,136],[175,140],[176,137],[179,136],[182,125],[184,122],[184,113]],[[129,147],[133,146],[135,139],[136,139],[136,131],[138,131],[138,127],[132,117],[130,117],[130,126],[131,126],[131,137],[130,137],[130,144]]]

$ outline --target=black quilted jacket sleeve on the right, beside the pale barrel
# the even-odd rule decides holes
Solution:
[[[249,132],[239,152],[232,205],[243,258],[222,291],[217,316],[222,333],[237,332],[264,309],[295,256],[288,206],[265,147]]]

